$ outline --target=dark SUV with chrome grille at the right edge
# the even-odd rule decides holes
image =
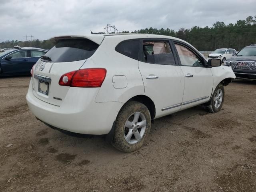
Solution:
[[[242,48],[225,65],[232,67],[236,78],[256,80],[256,44]]]

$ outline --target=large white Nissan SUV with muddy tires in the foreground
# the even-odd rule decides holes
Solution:
[[[32,68],[26,100],[52,128],[107,134],[124,152],[140,148],[151,120],[205,104],[218,112],[236,76],[178,38],[151,34],[58,36]]]

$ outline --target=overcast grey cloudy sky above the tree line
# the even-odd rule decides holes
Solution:
[[[256,15],[256,0],[0,0],[0,42],[142,28],[191,28]],[[33,39],[34,39],[33,38]]]

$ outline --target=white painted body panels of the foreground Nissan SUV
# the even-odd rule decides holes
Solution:
[[[80,36],[81,37],[81,36]],[[82,134],[108,134],[119,110],[138,95],[148,96],[155,104],[155,118],[165,116],[210,100],[216,86],[225,78],[235,78],[230,67],[197,68],[188,66],[158,65],[140,62],[115,51],[123,40],[135,38],[165,38],[170,36],[127,34],[83,36],[100,46],[87,60],[50,63],[38,60],[33,74],[47,76],[52,82],[49,95],[38,92],[38,79],[32,77],[26,100],[32,113],[51,126]],[[191,46],[191,45],[190,45]],[[44,64],[44,70],[40,66]],[[60,86],[60,77],[70,71],[85,68],[106,68],[106,78],[100,88]],[[192,78],[185,78],[191,73]],[[150,74],[157,79],[147,79]],[[61,98],[56,100],[53,97]],[[197,102],[182,103],[207,97]],[[162,110],[180,104],[175,108]]]

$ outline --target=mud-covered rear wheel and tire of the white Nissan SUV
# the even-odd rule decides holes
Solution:
[[[134,130],[135,124],[133,122],[135,119],[135,114],[139,114],[139,118],[137,120],[138,124],[140,123],[139,120],[141,120],[141,122],[146,120],[146,125],[143,125],[144,131],[142,131],[142,128],[137,129],[137,123],[136,123],[136,130]],[[142,118],[141,118],[141,116],[142,116]],[[131,119],[133,119],[133,120],[131,121]],[[128,128],[126,126],[127,121],[129,121],[129,123],[130,122],[132,123],[133,128]],[[144,123],[145,122],[143,122],[143,124]],[[130,125],[129,125],[129,127],[130,127]],[[118,116],[116,117],[112,145],[115,148],[117,148],[118,150],[123,151],[123,152],[136,151],[143,145],[144,141],[146,140],[146,138],[150,132],[150,128],[151,128],[151,116],[150,116],[150,112],[149,112],[148,108],[140,102],[128,101],[126,104],[124,104],[124,106],[118,113]],[[134,132],[136,132],[136,133],[138,132],[139,134],[142,134],[142,132],[144,132],[144,134],[141,136],[140,139],[138,139],[138,141],[136,143],[128,143],[127,137],[125,138],[126,132],[131,131],[131,129],[132,129],[132,137],[130,138],[129,142],[131,142],[131,141],[136,142],[136,137],[135,137]],[[128,135],[128,133],[127,133],[127,135]],[[138,138],[138,135],[136,135],[136,136]],[[134,139],[132,140],[132,138],[134,138]]]

